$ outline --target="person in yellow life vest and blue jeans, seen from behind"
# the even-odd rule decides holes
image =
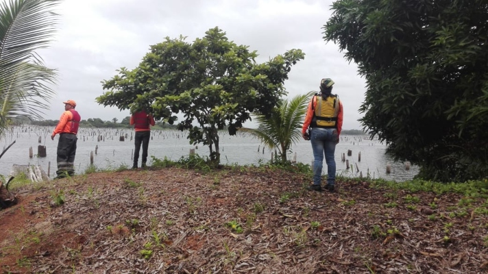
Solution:
[[[327,164],[327,184],[325,189],[334,192],[336,162],[335,147],[341,135],[343,106],[337,95],[332,94],[334,81],[321,79],[320,92],[312,97],[302,127],[302,137],[310,140],[313,151],[313,185],[308,190],[321,191],[321,175],[324,155]],[[310,133],[308,129],[310,127]]]

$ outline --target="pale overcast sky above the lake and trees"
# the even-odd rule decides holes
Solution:
[[[128,110],[95,102],[103,93],[103,79],[112,78],[122,66],[134,69],[149,46],[165,37],[181,34],[193,42],[219,27],[237,45],[256,50],[260,63],[302,49],[305,59],[292,67],[285,82],[288,97],[318,90],[320,79],[330,77],[333,92],[343,101],[343,129],[361,129],[357,120],[365,81],[357,75],[356,64],[349,64],[337,45],[322,38],[330,5],[332,0],[65,0],[58,6],[55,40],[39,51],[45,65],[59,73],[57,97],[45,119],[59,119],[62,101],[73,99],[84,120],[120,122],[130,115]]]

